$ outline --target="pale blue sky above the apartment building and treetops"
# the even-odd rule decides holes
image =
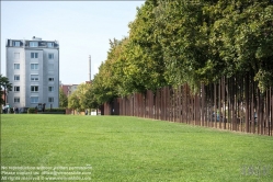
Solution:
[[[109,39],[128,35],[128,23],[145,1],[1,1],[1,73],[5,75],[5,39],[59,41],[60,81],[92,79],[107,57]]]

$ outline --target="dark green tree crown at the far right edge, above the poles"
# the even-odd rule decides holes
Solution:
[[[212,50],[225,65],[218,67],[223,75],[231,77],[251,72],[262,92],[272,87],[272,3],[220,0],[207,10],[217,18],[211,26],[209,42]]]

